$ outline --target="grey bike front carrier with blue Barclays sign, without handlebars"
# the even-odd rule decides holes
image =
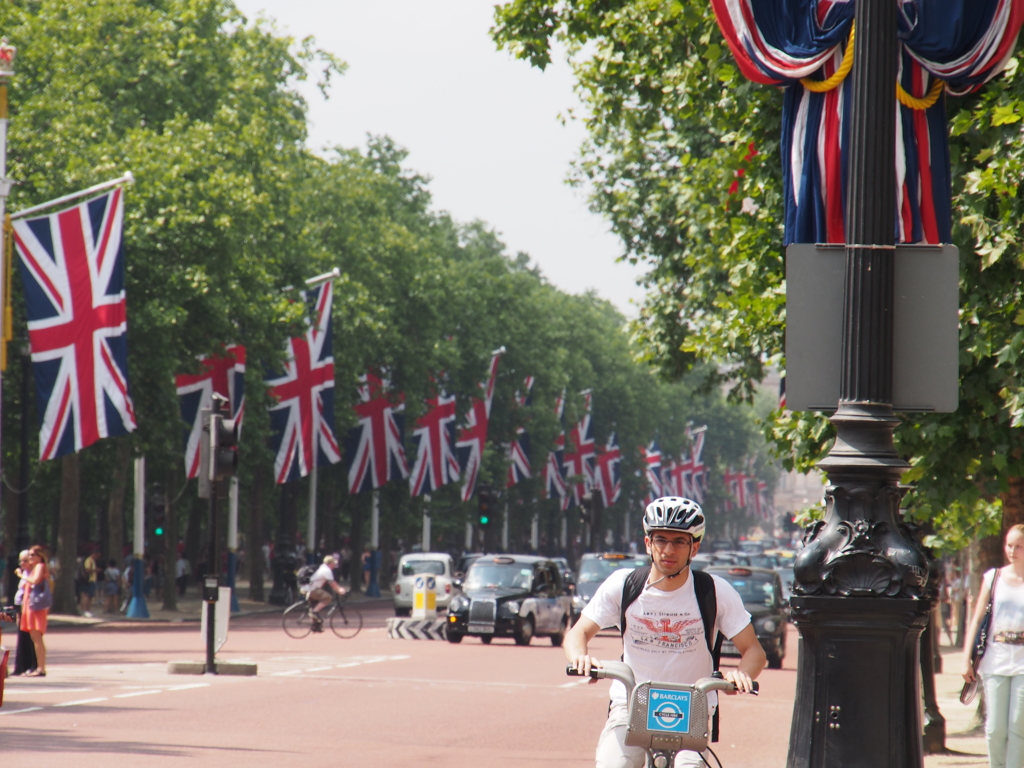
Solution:
[[[703,752],[708,746],[708,694],[692,685],[640,683],[630,695],[629,746]]]

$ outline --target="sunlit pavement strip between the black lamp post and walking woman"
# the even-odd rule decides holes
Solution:
[[[959,702],[961,688],[964,678],[959,676],[963,651],[948,646],[942,646],[942,674],[935,676],[935,695],[938,699],[939,712],[946,719],[946,750],[945,755],[928,755],[925,757],[927,768],[939,766],[978,766],[988,765],[985,752],[985,729],[978,720],[978,702],[975,699],[970,707]]]

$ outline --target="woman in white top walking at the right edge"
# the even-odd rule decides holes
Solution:
[[[1024,768],[1024,525],[1007,531],[1005,551],[1009,565],[992,568],[982,579],[967,637],[978,634],[991,597],[988,644],[978,667],[985,691],[988,764]],[[968,682],[975,678],[971,644],[964,654]]]

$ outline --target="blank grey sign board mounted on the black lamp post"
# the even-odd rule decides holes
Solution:
[[[959,380],[959,252],[897,246],[893,409],[952,413]],[[835,411],[843,339],[842,245],[785,252],[785,397],[791,411]]]

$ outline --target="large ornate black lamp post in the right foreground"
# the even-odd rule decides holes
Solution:
[[[825,519],[795,565],[801,634],[790,768],[923,765],[919,649],[928,561],[898,522],[893,444],[897,6],[857,0],[846,280]]]

